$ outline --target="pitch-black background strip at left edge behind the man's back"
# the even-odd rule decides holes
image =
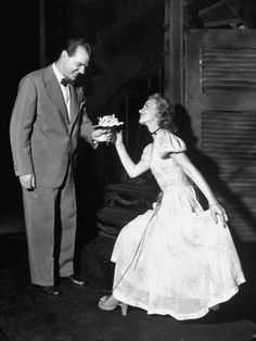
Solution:
[[[38,22],[38,1],[9,1],[4,4],[1,21],[4,75],[1,97],[1,213],[20,210],[21,206],[21,188],[13,171],[9,124],[21,77],[39,66]]]

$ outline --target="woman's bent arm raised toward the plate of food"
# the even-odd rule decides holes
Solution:
[[[120,162],[130,178],[135,178],[144,173],[145,171],[150,169],[150,166],[143,160],[141,160],[138,164],[135,164],[133,161],[130,159],[126,151],[125,144],[123,143],[121,131],[116,134],[114,142]]]

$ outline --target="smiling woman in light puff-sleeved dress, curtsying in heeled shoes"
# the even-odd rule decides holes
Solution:
[[[179,320],[200,318],[228,301],[245,281],[240,260],[223,207],[174,134],[167,99],[155,93],[139,112],[153,143],[145,147],[138,164],[127,154],[121,132],[115,147],[128,175],[151,169],[162,193],[154,210],[118,235],[112,254],[113,294],[103,296],[99,307],[120,306],[126,315],[132,305]],[[207,211],[197,201],[194,185],[207,199]]]

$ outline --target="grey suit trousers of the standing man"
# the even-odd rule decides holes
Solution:
[[[53,286],[74,274],[76,193],[68,166],[60,188],[23,189],[31,283]]]

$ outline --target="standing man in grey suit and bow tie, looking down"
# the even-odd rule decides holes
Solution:
[[[84,92],[73,86],[90,54],[84,39],[69,39],[55,63],[23,77],[10,124],[14,169],[23,188],[31,283],[52,298],[62,294],[60,279],[85,286],[73,265],[78,138],[93,148],[110,140],[106,130],[93,129]]]

